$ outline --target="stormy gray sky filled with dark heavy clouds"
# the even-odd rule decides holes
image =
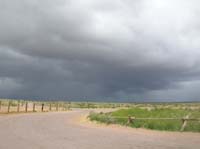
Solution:
[[[0,97],[200,101],[199,0],[0,0]]]

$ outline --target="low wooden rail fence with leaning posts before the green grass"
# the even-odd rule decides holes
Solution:
[[[183,117],[183,118],[136,118],[136,117],[132,117],[132,116],[128,116],[128,117],[115,116],[112,118],[127,119],[127,124],[133,124],[135,120],[180,120],[180,121],[182,121],[182,127],[181,127],[180,131],[184,131],[188,121],[200,121],[200,118],[189,118],[189,115],[187,115],[186,117]]]

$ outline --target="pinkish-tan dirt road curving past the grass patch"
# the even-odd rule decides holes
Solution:
[[[0,116],[0,149],[199,149],[199,133],[99,126],[87,110]]]

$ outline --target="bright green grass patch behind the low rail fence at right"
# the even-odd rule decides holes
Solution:
[[[200,110],[191,109],[121,109],[112,113],[91,113],[89,118],[106,124],[128,125],[134,128],[147,128],[154,130],[180,131],[181,120],[134,120],[132,124],[127,124],[128,116],[136,118],[183,118],[190,115],[190,118],[200,118]],[[124,117],[124,118],[123,118]],[[200,132],[199,121],[188,121],[184,131]]]

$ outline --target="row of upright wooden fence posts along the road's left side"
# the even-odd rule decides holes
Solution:
[[[19,112],[49,112],[66,111],[70,109],[70,103],[63,102],[31,102],[31,101],[2,101],[0,100],[0,113]]]

